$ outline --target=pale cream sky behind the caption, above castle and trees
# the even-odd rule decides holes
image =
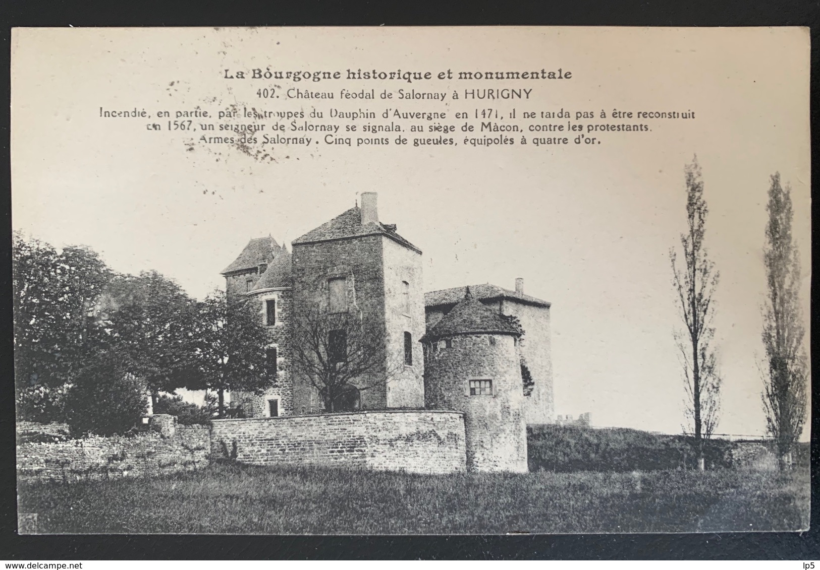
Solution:
[[[113,269],[157,269],[189,294],[221,287],[221,269],[251,238],[290,242],[379,192],[380,219],[424,251],[427,290],[471,283],[552,303],[556,412],[594,424],[679,432],[681,369],[668,250],[686,226],[684,165],[697,153],[721,273],[717,345],[724,378],[718,432],[765,427],[756,362],[768,178],[795,201],[809,319],[809,40],[788,29],[43,29],[22,30],[12,70],[13,226],[54,245],[84,244]],[[649,133],[607,133],[567,147],[276,147],[256,161],[234,147],[189,144],[149,114],[232,103],[309,111],[225,69],[572,70],[570,80],[470,84],[532,88],[529,101],[339,101],[502,112],[695,111],[640,120]],[[173,84],[171,84],[173,83]],[[458,81],[299,84],[463,92]],[[197,121],[194,121],[196,124]],[[216,121],[215,121],[216,122]],[[387,121],[378,118],[374,123]],[[475,123],[476,121],[471,121]],[[542,121],[539,121],[542,122]],[[566,120],[544,120],[543,123]],[[586,121],[581,120],[581,123]],[[595,120],[596,123],[613,122]],[[617,122],[617,121],[615,121]],[[421,121],[423,124],[429,124]],[[526,124],[526,123],[522,123]],[[218,133],[217,133],[218,134]],[[293,136],[294,133],[287,133]],[[462,133],[455,133],[462,140]],[[308,134],[308,136],[311,136]],[[316,137],[317,135],[313,134]],[[321,135],[320,135],[321,136]],[[517,139],[520,135],[517,136]],[[192,147],[193,150],[187,150]],[[807,331],[808,334],[808,331]],[[808,347],[807,336],[807,347]]]

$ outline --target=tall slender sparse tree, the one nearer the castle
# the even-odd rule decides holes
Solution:
[[[704,181],[697,156],[686,165],[687,233],[681,233],[683,267],[679,268],[677,253],[669,250],[672,263],[672,283],[677,292],[686,328],[675,333],[681,351],[686,389],[686,417],[695,434],[703,466],[703,440],[712,436],[720,414],[721,377],[717,372],[717,357],[713,347],[714,292],[720,274],[708,258],[704,233],[708,207],[704,201]]]

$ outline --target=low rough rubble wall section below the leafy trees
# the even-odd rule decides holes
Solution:
[[[17,446],[17,476],[74,482],[115,477],[153,477],[203,468],[211,447],[207,426],[175,425],[169,432],[133,437],[85,437]]]

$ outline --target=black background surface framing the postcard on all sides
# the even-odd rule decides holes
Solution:
[[[9,91],[15,26],[244,25],[653,25],[811,27],[811,123],[817,140],[820,1],[564,0],[563,2],[123,2],[0,0],[0,86]],[[81,73],[82,70],[77,70]],[[790,88],[784,85],[782,88]],[[48,110],[43,110],[48,111]],[[818,559],[818,504],[812,529],[795,533],[562,536],[17,536],[11,354],[11,194],[7,111],[0,122],[0,559]],[[813,152],[812,187],[820,165]],[[812,192],[815,197],[815,192]],[[817,227],[816,202],[812,218]],[[813,230],[813,235],[815,235]],[[817,251],[813,248],[813,261]],[[820,265],[817,265],[820,267]],[[812,299],[815,298],[815,280]],[[812,311],[812,337],[818,319]],[[813,347],[812,347],[813,348]],[[814,357],[814,351],[812,351]],[[817,362],[817,358],[812,359]],[[813,371],[814,371],[813,366]],[[817,488],[818,385],[812,390],[812,495]],[[795,566],[795,568],[799,568]]]

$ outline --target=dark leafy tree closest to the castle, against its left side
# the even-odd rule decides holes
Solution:
[[[225,414],[225,391],[261,394],[271,385],[266,367],[266,331],[255,305],[244,297],[216,291],[198,304],[198,371],[192,389],[216,391],[219,417]]]

